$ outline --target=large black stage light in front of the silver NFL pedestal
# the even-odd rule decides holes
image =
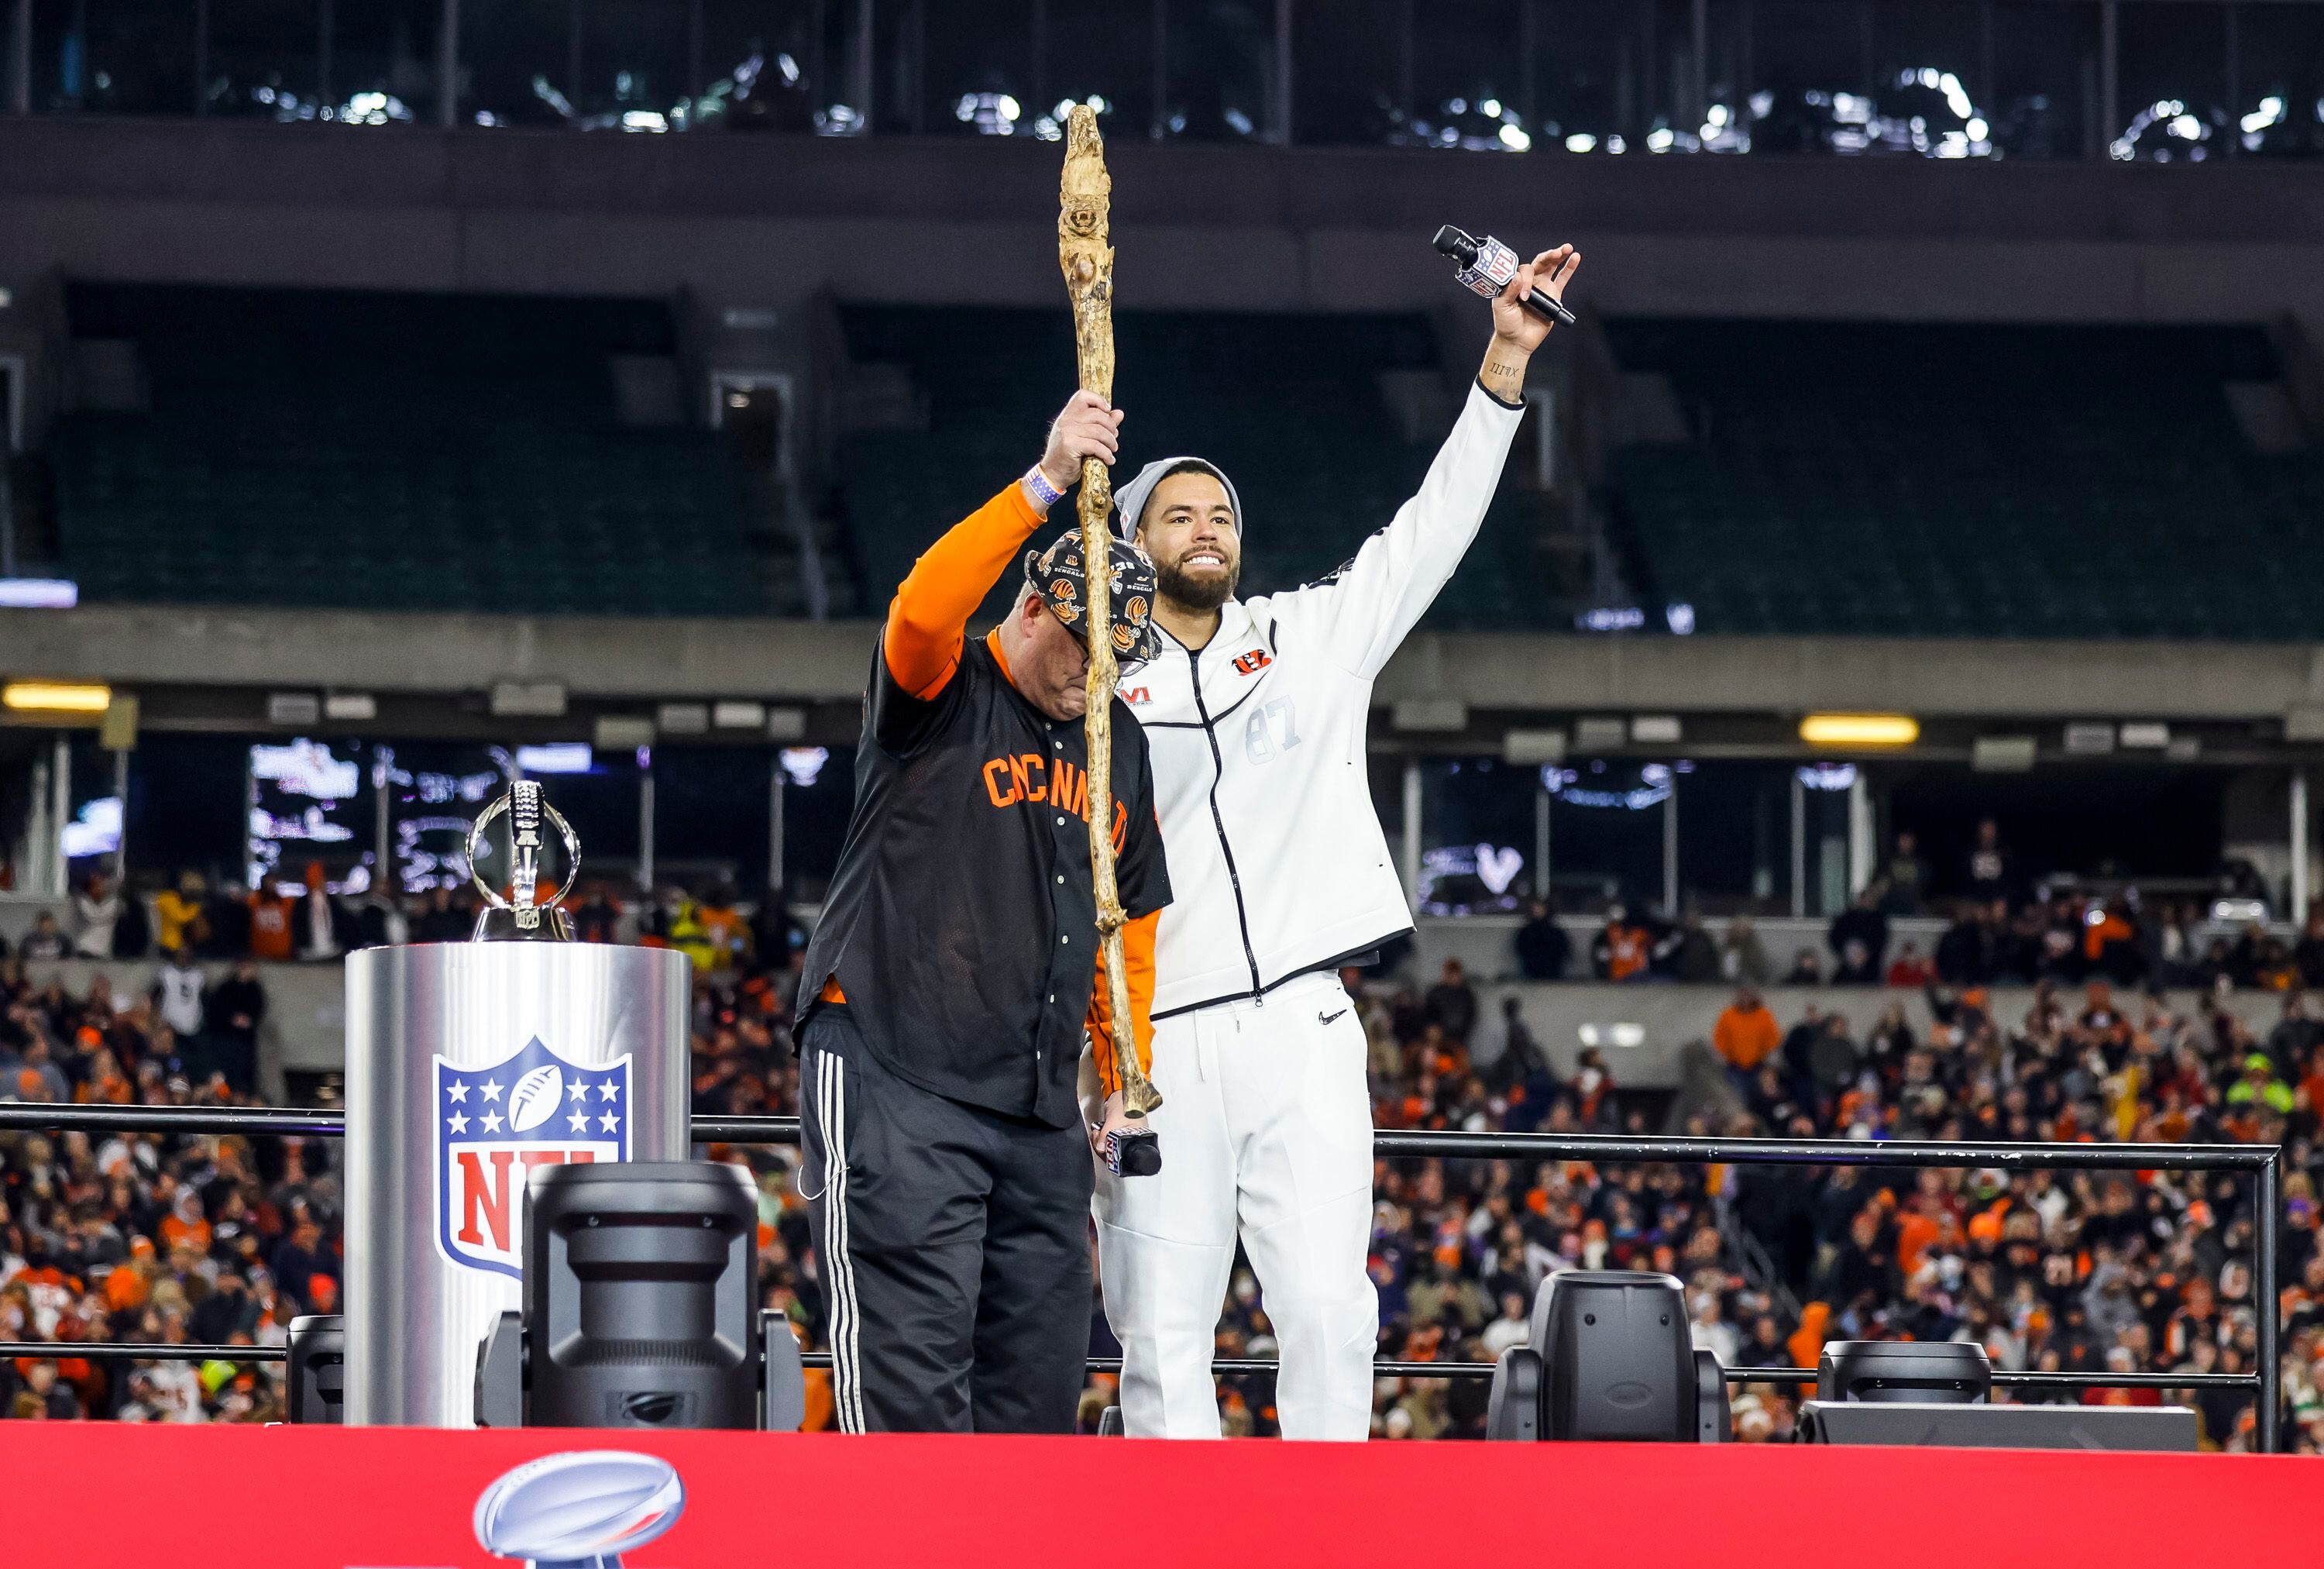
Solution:
[[[758,1427],[755,1292],[748,1172],[686,1160],[535,1169],[528,1425]]]

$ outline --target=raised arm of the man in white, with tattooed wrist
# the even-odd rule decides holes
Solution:
[[[1492,342],[1452,435],[1436,449],[1420,490],[1329,579],[1276,597],[1290,637],[1320,637],[1353,674],[1371,679],[1420,623],[1485,523],[1501,463],[1525,418],[1525,367],[1550,323],[1525,309],[1541,281],[1564,295],[1580,253],[1562,244],[1518,267],[1492,302]]]

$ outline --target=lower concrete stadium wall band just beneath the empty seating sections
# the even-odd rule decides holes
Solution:
[[[862,697],[867,623],[367,616],[281,609],[0,609],[0,667],[132,688],[474,693],[562,681],[576,700]],[[1483,711],[1906,711],[1927,718],[2284,721],[2324,735],[2310,644],[1420,632],[1378,702]],[[256,700],[253,700],[256,702]],[[249,704],[246,704],[249,707]],[[263,721],[263,702],[249,723]]]

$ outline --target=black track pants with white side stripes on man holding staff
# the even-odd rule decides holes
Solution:
[[[1083,1132],[897,1079],[830,1004],[799,1086],[841,1432],[1071,1432],[1090,1351]]]

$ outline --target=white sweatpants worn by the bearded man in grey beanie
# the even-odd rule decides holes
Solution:
[[[1285,1439],[1364,1439],[1380,1297],[1364,1025],[1332,974],[1155,1025],[1157,1176],[1099,1165],[1097,1262],[1122,1344],[1122,1430],[1215,1439],[1211,1353],[1234,1237],[1260,1274]]]

